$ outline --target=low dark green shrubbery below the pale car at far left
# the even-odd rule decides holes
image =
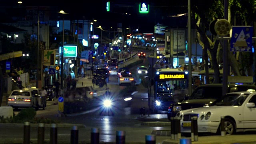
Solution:
[[[47,118],[36,118],[36,110],[34,108],[26,108],[22,109],[17,115],[13,114],[13,117],[4,118],[4,116],[0,116],[0,123],[60,123],[57,120],[51,120]]]

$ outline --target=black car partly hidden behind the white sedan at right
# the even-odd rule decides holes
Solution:
[[[228,93],[247,91],[248,89],[256,90],[256,86],[250,84],[228,84]],[[180,102],[170,104],[167,112],[168,119],[170,120],[171,117],[176,116],[181,110],[203,107],[221,97],[222,84],[204,84],[198,86],[191,96]]]

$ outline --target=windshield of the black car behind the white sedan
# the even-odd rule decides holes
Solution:
[[[196,99],[218,99],[222,97],[222,87],[220,86],[209,86],[199,87],[194,90],[189,100]]]

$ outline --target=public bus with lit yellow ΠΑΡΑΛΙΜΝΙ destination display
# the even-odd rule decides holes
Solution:
[[[151,109],[154,113],[166,113],[171,103],[176,103],[188,94],[188,72],[180,68],[156,70],[151,88]]]

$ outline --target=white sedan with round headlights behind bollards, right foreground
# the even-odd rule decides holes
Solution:
[[[182,110],[181,132],[191,132],[191,118],[198,117],[198,132],[220,132],[221,116],[225,117],[226,134],[256,131],[256,92],[232,92],[216,100],[211,106]]]

